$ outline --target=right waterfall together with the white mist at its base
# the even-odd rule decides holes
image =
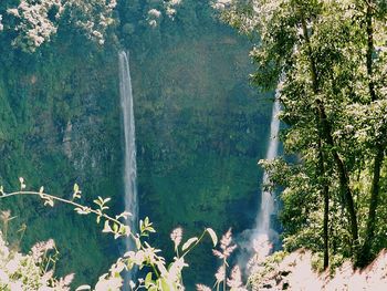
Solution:
[[[279,101],[279,89],[275,92],[275,100],[272,108],[270,123],[270,136],[265,159],[272,160],[279,154],[279,114],[281,105]],[[266,257],[271,251],[279,249],[280,237],[273,226],[276,220],[278,205],[275,204],[275,193],[266,190],[264,186],[269,183],[269,175],[263,173],[261,186],[261,205],[257,209],[257,218],[253,229],[245,229],[236,238],[238,243],[238,264],[245,276],[249,274],[249,261],[258,254],[260,258]],[[257,256],[255,256],[257,257]]]

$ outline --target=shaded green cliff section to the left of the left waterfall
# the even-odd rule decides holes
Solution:
[[[77,183],[83,201],[98,195],[121,199],[121,129],[117,107],[116,58],[102,51],[79,51],[54,42],[40,55],[15,54],[2,66],[0,81],[1,184],[18,189],[24,177],[29,189],[44,185],[48,193],[72,197]],[[118,194],[117,194],[118,193]],[[95,226],[63,205],[45,208],[34,198],[1,201],[17,216],[11,242],[27,225],[24,250],[54,238],[62,273],[75,271],[82,281],[95,280],[118,253]]]

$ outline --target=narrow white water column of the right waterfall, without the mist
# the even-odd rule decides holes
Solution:
[[[274,159],[278,156],[279,152],[279,138],[278,135],[280,133],[280,119],[278,118],[278,115],[281,111],[280,101],[279,101],[279,89],[275,92],[275,101],[273,104],[272,110],[272,117],[271,117],[271,124],[270,124],[270,138],[269,138],[269,147],[266,152],[265,159]],[[262,185],[268,184],[269,181],[269,175],[266,172],[263,173],[262,178]],[[271,224],[270,218],[273,215],[274,211],[274,197],[271,191],[266,191],[263,189],[262,186],[262,196],[261,196],[261,209],[259,211],[259,216],[255,220],[257,226],[257,232],[259,235],[266,236],[266,238],[270,239],[270,232],[271,232]]]

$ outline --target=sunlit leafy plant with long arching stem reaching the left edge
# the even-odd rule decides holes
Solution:
[[[175,245],[176,257],[169,263],[159,254],[160,250],[151,247],[144,238],[149,233],[155,232],[149,218],[139,221],[139,233],[133,233],[132,229],[125,224],[130,214],[124,211],[115,217],[106,214],[108,209],[109,198],[98,197],[94,200],[96,207],[84,206],[76,202],[82,196],[82,191],[77,184],[73,187],[73,198],[71,200],[60,198],[44,193],[41,187],[39,191],[27,190],[25,181],[22,177],[19,178],[20,189],[13,193],[6,193],[4,188],[0,187],[0,199],[10,198],[12,196],[38,196],[45,206],[54,207],[55,202],[64,202],[74,208],[79,215],[94,215],[96,222],[104,221],[103,232],[114,235],[114,238],[130,239],[134,242],[135,249],[127,251],[124,256],[111,267],[107,273],[100,277],[95,290],[118,290],[124,283],[124,276],[127,272],[134,272],[137,268],[146,270],[145,278],[138,279],[136,282],[130,281],[132,290],[184,290],[182,269],[188,267],[185,262],[186,256],[199,245],[206,235],[208,235],[213,243],[218,243],[218,238],[211,228],[206,228],[199,237],[189,238],[182,243],[182,230],[175,229],[171,233],[171,240]],[[7,220],[9,221],[9,219]],[[227,249],[229,250],[229,249]],[[226,250],[224,250],[226,251]],[[230,250],[229,250],[230,251]],[[91,290],[90,285],[81,285],[76,290]]]

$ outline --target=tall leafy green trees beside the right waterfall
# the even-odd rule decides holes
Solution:
[[[264,166],[284,189],[284,247],[324,252],[324,268],[330,256],[364,266],[387,246],[386,2],[219,2],[227,22],[260,37],[253,82],[280,91],[295,156]]]

